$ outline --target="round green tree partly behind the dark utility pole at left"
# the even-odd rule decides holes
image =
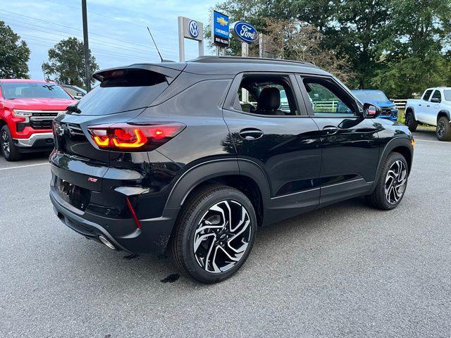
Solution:
[[[91,74],[99,69],[94,56],[89,60]],[[49,62],[42,64],[47,76],[54,75],[56,82],[85,87],[85,54],[83,42],[76,37],[61,40],[49,49]],[[94,79],[91,79],[94,84]]]

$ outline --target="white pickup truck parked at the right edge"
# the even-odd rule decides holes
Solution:
[[[451,141],[451,87],[428,88],[421,99],[406,103],[405,123],[411,132],[420,125],[433,125],[440,141]]]

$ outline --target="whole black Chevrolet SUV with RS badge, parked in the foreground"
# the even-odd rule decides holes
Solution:
[[[404,195],[407,127],[309,63],[205,56],[93,76],[54,122],[50,199],[111,249],[167,249],[218,282],[257,227],[360,195],[388,210]]]

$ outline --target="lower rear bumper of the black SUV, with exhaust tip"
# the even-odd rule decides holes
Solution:
[[[55,187],[50,189],[50,200],[58,218],[70,229],[97,242],[100,242],[99,236],[102,235],[117,250],[130,253],[163,253],[180,210],[165,208],[161,217],[140,220],[141,229],[135,228],[131,232],[124,233],[123,228],[128,227],[133,220],[106,218],[88,211],[80,211],[61,199]]]

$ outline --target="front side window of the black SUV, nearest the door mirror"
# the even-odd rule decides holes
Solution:
[[[309,94],[311,110],[315,116],[358,115],[355,101],[337,84],[329,80],[309,77],[304,78],[302,82]]]

